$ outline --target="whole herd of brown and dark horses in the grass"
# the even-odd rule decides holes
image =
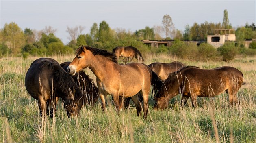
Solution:
[[[225,91],[230,105],[237,102],[236,93],[243,84],[243,74],[238,69],[200,69],[178,61],[150,65],[118,64],[117,57],[120,56],[144,60],[139,50],[129,47],[117,47],[110,53],[80,46],[72,62],[59,64],[51,58],[33,61],[26,73],[25,86],[28,93],[38,100],[41,116],[48,114],[54,117],[59,97],[69,117],[79,115],[82,106],[95,105],[99,97],[105,111],[106,97],[112,95],[117,113],[123,106],[128,108],[132,99],[137,115],[142,116],[143,108],[144,118],[147,118],[150,88],[154,93],[154,109],[166,109],[169,100],[179,93],[181,106],[186,104],[189,97],[195,106],[197,96],[213,97]],[[83,71],[87,67],[96,76],[97,86]]]

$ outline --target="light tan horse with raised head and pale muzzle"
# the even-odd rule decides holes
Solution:
[[[87,67],[96,76],[103,111],[106,110],[106,96],[109,94],[114,99],[117,114],[119,114],[119,97],[132,97],[137,115],[142,116],[138,97],[140,93],[143,97],[144,119],[147,118],[148,95],[151,86],[151,76],[147,65],[143,63],[119,65],[113,53],[90,46],[80,46],[76,50],[76,57],[67,67],[67,71],[75,75],[76,72]]]

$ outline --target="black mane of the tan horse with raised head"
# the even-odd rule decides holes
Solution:
[[[86,50],[89,50],[93,53],[93,55],[102,55],[108,59],[110,59],[111,61],[113,61],[114,63],[117,63],[117,57],[115,56],[115,54],[108,52],[106,50],[102,50],[102,49],[98,49],[98,48],[93,48],[90,46],[80,46],[77,50],[76,50],[76,55],[80,55],[83,52],[83,48],[86,48]]]

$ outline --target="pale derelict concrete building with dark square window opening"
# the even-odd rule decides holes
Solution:
[[[234,29],[215,29],[214,35],[207,36],[207,43],[219,48],[226,41],[236,41],[234,32]]]

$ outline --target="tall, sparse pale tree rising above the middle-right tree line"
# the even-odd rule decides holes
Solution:
[[[163,16],[162,24],[165,37],[167,38],[168,36],[171,36],[171,32],[174,29],[174,23],[172,22],[170,15],[166,14]]]

